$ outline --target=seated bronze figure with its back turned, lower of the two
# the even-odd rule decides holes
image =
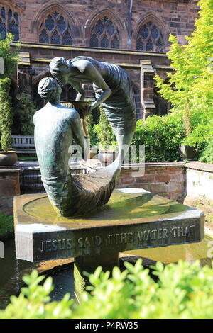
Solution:
[[[87,145],[80,115],[74,108],[60,104],[61,87],[50,77],[40,81],[38,93],[48,103],[37,111],[35,147],[45,191],[55,210],[62,216],[84,215],[109,201],[116,186],[118,161],[113,168],[95,174],[71,176],[68,165],[74,139],[87,156]]]

